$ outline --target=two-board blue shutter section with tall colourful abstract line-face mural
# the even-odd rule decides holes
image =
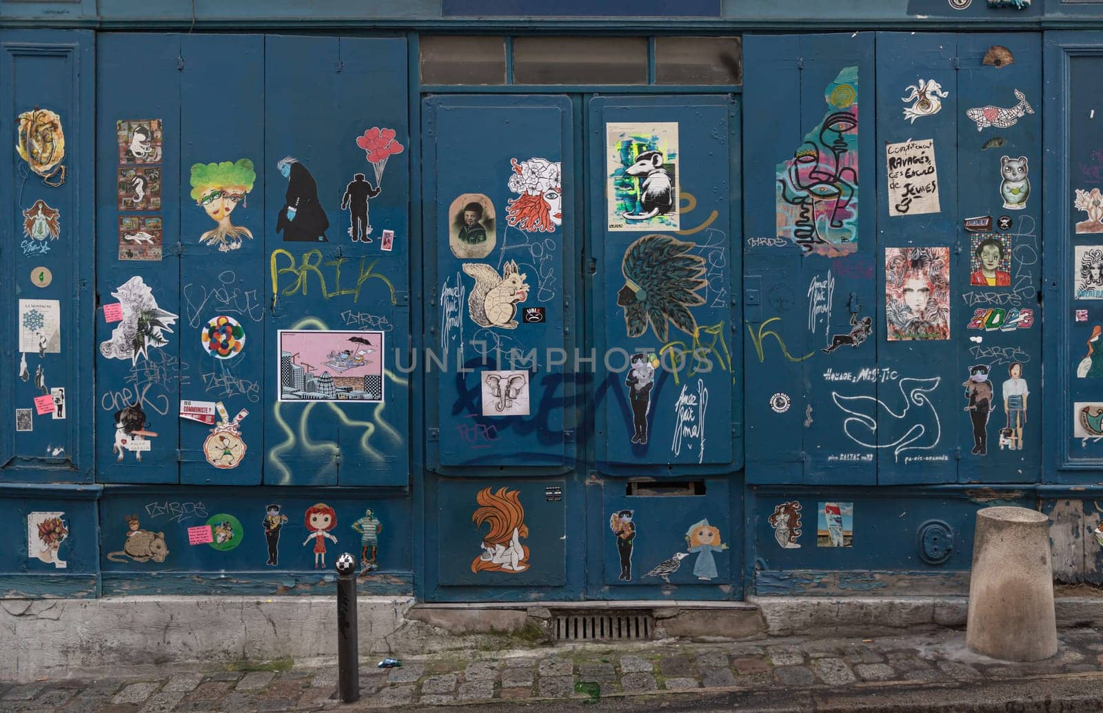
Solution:
[[[745,38],[747,478],[877,478],[874,36]],[[773,210],[769,210],[772,207]],[[854,323],[852,323],[852,318]],[[829,353],[869,318],[868,337]],[[866,445],[863,445],[866,444]]]

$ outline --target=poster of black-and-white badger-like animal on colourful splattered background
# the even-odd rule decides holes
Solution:
[[[679,230],[678,125],[606,125],[610,231]]]

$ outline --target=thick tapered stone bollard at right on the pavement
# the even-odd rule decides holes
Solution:
[[[1026,508],[976,513],[965,643],[1005,661],[1057,653],[1049,518]]]

